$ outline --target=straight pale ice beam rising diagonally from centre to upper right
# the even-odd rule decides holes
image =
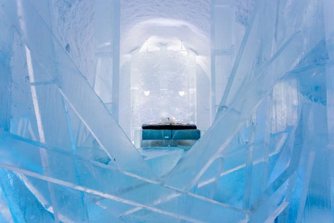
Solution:
[[[246,121],[249,113],[256,108],[285,72],[296,66],[300,55],[304,52],[302,39],[301,32],[291,36],[268,61],[257,79],[234,101],[222,117],[217,117],[212,127],[172,170],[166,184],[189,190],[196,183],[201,174],[224,150],[241,124]]]

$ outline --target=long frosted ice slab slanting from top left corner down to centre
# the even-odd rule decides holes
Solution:
[[[58,90],[111,160],[123,170],[155,178],[150,167],[143,161],[135,146],[112,118],[33,6],[28,1],[18,3],[16,6],[15,2],[2,1],[2,13],[21,34],[31,56],[45,68],[45,75],[52,78]],[[19,19],[17,13],[20,14]],[[39,28],[35,29],[36,26]],[[76,87],[73,87],[73,83]],[[133,163],[137,165],[134,166]]]

